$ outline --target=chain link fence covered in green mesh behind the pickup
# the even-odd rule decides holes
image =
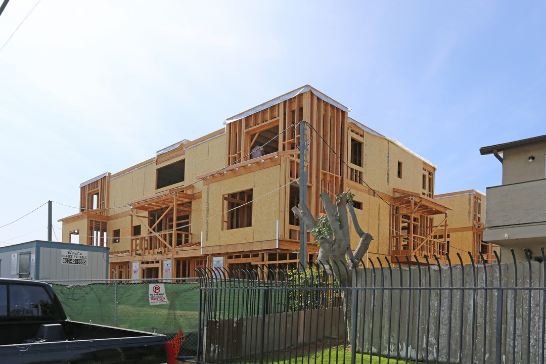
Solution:
[[[199,281],[195,278],[48,281],[72,321],[156,332],[183,341],[179,357],[195,357]],[[168,303],[151,305],[149,292],[163,284]]]

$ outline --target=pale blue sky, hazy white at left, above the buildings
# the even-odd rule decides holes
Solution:
[[[8,3],[0,47],[34,3]],[[81,182],[306,84],[437,165],[437,194],[485,192],[502,169],[480,147],[546,134],[545,15],[532,1],[42,0],[0,52],[0,226],[77,206]],[[78,212],[53,209],[58,228]],[[0,246],[46,225],[43,206]]]

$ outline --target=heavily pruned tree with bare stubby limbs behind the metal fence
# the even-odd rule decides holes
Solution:
[[[347,204],[347,196],[347,193],[337,194],[335,204],[333,204],[327,192],[321,193],[320,197],[326,212],[327,222],[324,219],[319,219],[317,222],[307,205],[302,202],[298,204],[298,207],[292,207],[294,215],[305,223],[319,244],[317,262],[324,267],[328,275],[337,278],[340,287],[352,287],[353,271],[358,268],[360,260],[366,254],[373,240],[369,233],[360,228],[353,204]],[[348,215],[351,216],[354,229],[360,237],[354,252],[351,250]],[[347,333],[350,333],[353,317],[352,291],[342,290],[342,299]]]

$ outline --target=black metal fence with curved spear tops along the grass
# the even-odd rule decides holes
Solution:
[[[544,364],[541,251],[542,261],[526,252],[516,262],[512,252],[512,262],[495,254],[494,264],[482,256],[463,265],[459,254],[443,266],[436,257],[422,266],[369,259],[349,272],[352,287],[311,263],[199,270],[197,360]]]

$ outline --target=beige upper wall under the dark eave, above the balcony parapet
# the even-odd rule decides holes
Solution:
[[[540,180],[545,176],[546,142],[508,148],[502,153],[502,184]],[[535,157],[529,162],[529,157]]]

